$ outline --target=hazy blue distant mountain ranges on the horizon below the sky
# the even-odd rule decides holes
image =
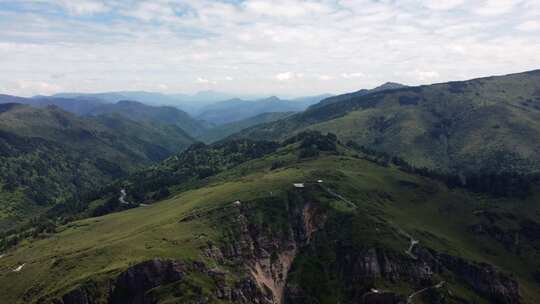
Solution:
[[[268,115],[269,113],[300,112],[330,96],[324,94],[291,100],[283,100],[273,96],[257,100],[235,98],[216,101],[218,98],[228,97],[228,95],[211,91],[200,92],[193,96],[149,92],[62,93],[33,98],[0,95],[0,103],[16,102],[37,107],[55,105],[80,116],[116,113],[135,121],[176,125],[195,138],[203,136],[203,134],[212,134],[209,135],[209,138],[219,140],[221,138],[216,137],[218,134],[230,135],[231,130],[240,131],[239,126],[249,127],[257,123],[269,122],[270,120],[267,119],[269,117],[278,117],[277,115]],[[190,115],[178,109],[177,106],[159,105],[178,104],[177,101],[182,98],[191,100],[190,102],[186,101],[186,104],[197,105],[198,110],[195,111],[195,113],[199,113],[197,116],[193,116],[193,112]],[[196,104],[194,100],[204,100],[204,102]],[[265,115],[259,116],[262,114]],[[258,121],[258,117],[261,118],[260,121]],[[216,129],[217,126],[234,122],[239,122],[239,124],[227,126],[225,129]],[[204,138],[204,140],[206,139],[208,138]]]

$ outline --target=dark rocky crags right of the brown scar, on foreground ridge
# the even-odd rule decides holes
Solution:
[[[336,244],[334,250],[336,260],[325,265],[326,271],[338,275],[340,288],[351,303],[405,303],[406,295],[371,290],[380,280],[407,282],[421,290],[441,282],[435,279],[435,274],[448,273],[489,299],[490,303],[517,304],[521,301],[518,283],[489,264],[477,264],[421,247],[414,251],[417,259],[381,248],[358,250]],[[310,303],[305,300],[310,298],[309,292],[297,284],[287,284],[285,298],[287,303]]]

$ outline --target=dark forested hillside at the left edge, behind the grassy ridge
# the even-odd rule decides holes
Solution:
[[[52,206],[77,204],[113,179],[191,143],[173,126],[0,105],[0,231],[28,223]]]

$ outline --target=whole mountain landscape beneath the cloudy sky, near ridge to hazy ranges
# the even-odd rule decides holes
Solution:
[[[124,97],[0,96],[0,302],[540,299],[539,70]]]

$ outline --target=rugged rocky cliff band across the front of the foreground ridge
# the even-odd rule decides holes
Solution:
[[[82,284],[55,303],[153,304],[166,295],[179,303],[303,304],[319,301],[326,289],[342,303],[408,303],[423,297],[424,291],[433,299],[454,301],[447,303],[467,303],[449,292],[447,279],[492,303],[521,301],[517,281],[492,265],[420,246],[409,255],[383,243],[351,243],[342,231],[327,225],[334,221],[351,230],[350,223],[336,221],[324,204],[301,191],[182,221],[204,217],[221,217],[218,222],[225,228],[221,239],[200,248],[201,261],[145,261],[113,279]],[[318,270],[305,265],[317,265]],[[392,285],[408,286],[411,292],[384,287]]]

